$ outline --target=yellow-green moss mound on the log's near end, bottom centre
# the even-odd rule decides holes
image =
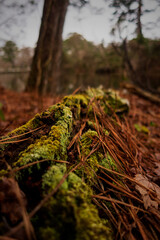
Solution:
[[[50,176],[46,173],[43,177],[43,189],[47,192],[48,188],[54,189],[64,171],[64,164],[52,167]],[[43,222],[38,222],[39,229],[36,229],[35,223],[39,239],[113,239],[111,226],[100,219],[98,210],[91,202],[91,195],[92,190],[80,177],[75,173],[69,174],[63,187],[39,212],[39,219],[43,219]]]

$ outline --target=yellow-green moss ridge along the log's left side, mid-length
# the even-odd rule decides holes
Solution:
[[[51,127],[49,135],[37,139],[25,151],[21,152],[14,166],[23,166],[41,159],[63,158],[65,160],[67,158],[67,145],[72,128],[72,112],[64,105],[57,105],[55,109],[57,110],[55,115],[60,113],[61,115],[59,118],[56,117],[57,121]]]

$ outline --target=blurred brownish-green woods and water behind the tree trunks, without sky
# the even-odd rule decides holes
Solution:
[[[116,48],[116,49],[115,49]],[[143,76],[142,84],[150,91],[160,87],[160,41],[137,39],[128,42],[130,59],[137,74]],[[1,47],[0,83],[14,91],[24,91],[30,71],[34,49],[18,49],[12,41]],[[69,94],[79,86],[119,88],[130,82],[120,43],[95,45],[80,34],[73,33],[63,41],[61,76],[58,94]],[[143,86],[143,85],[142,85]],[[158,90],[159,91],[159,90]]]

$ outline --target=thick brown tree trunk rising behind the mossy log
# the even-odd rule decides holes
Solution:
[[[26,91],[55,94],[60,76],[62,31],[69,0],[45,0]]]

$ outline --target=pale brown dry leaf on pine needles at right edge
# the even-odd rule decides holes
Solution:
[[[135,188],[142,196],[144,207],[146,209],[149,207],[158,209],[158,202],[151,199],[147,189],[154,191],[157,195],[157,198],[160,200],[160,187],[155,183],[151,183],[145,176],[141,174],[137,174],[134,179],[136,182],[140,183],[140,185],[137,184]]]

